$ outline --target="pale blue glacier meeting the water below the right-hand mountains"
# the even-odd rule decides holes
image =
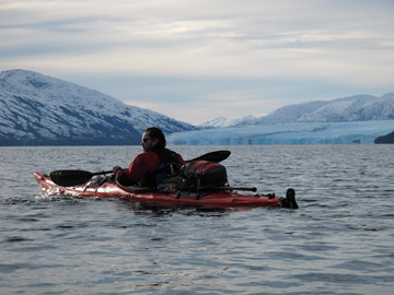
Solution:
[[[167,142],[174,145],[373,144],[378,137],[393,130],[394,120],[291,122],[176,132],[167,137]]]

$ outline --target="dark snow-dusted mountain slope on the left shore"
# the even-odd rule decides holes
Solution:
[[[0,145],[138,144],[147,127],[196,130],[159,113],[25,70],[0,73]]]

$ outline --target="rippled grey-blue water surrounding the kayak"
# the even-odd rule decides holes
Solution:
[[[231,150],[231,185],[293,187],[300,209],[46,197],[33,172],[127,166],[140,148],[0,148],[0,293],[394,294],[394,145],[174,149]]]

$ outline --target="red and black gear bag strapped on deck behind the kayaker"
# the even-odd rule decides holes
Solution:
[[[199,191],[204,188],[221,187],[228,182],[225,167],[208,161],[189,162],[182,166],[188,189]]]

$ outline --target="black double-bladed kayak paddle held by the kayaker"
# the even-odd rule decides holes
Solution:
[[[216,151],[200,155],[193,160],[188,160],[186,162],[200,161],[200,160],[210,161],[210,162],[221,162],[228,158],[230,154],[231,154],[230,151]],[[57,170],[57,172],[51,172],[49,174],[49,177],[58,186],[74,187],[74,186],[83,185],[95,175],[111,174],[111,173],[113,173],[113,170],[100,172],[100,173],[90,173],[84,170]]]

